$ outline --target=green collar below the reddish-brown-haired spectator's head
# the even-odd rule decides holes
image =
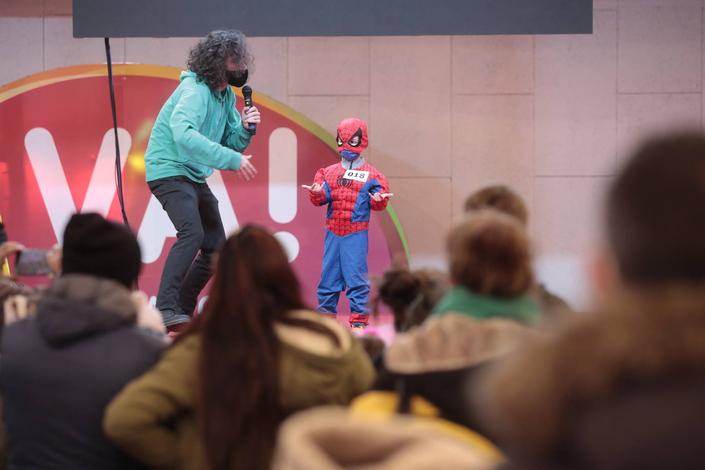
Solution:
[[[465,314],[476,319],[505,318],[534,325],[539,322],[541,309],[531,297],[488,297],[462,286],[455,286],[434,307],[435,315],[450,312]]]

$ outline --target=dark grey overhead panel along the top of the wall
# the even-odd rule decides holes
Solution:
[[[551,35],[592,32],[592,0],[73,0],[74,37]]]

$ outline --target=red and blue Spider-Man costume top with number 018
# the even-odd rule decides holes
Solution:
[[[364,172],[369,173],[362,181]],[[352,179],[356,176],[359,179]],[[388,193],[389,183],[377,168],[367,162],[353,170],[343,168],[341,163],[321,168],[316,173],[314,183],[319,183],[323,190],[319,194],[309,193],[311,202],[314,206],[329,205],[326,228],[339,237],[367,230],[370,211],[384,211],[389,202],[388,198],[379,202],[372,200],[372,194],[376,192]]]

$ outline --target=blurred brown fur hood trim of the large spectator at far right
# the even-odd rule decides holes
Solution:
[[[599,314],[498,366],[479,390],[478,408],[510,450],[545,459],[570,439],[566,436],[580,433],[576,426],[584,423],[580,420],[586,410],[615,397],[626,395],[628,401],[630,393],[645,387],[687,387],[704,378],[705,290],[699,286],[624,292]],[[673,400],[664,400],[666,404]],[[618,419],[624,423],[627,418]],[[634,426],[655,424],[644,420]],[[646,450],[648,445],[639,447],[639,452]]]

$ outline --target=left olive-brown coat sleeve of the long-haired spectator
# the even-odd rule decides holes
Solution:
[[[178,436],[169,422],[194,404],[197,342],[186,338],[108,405],[103,428],[124,452],[154,469],[178,467]]]

